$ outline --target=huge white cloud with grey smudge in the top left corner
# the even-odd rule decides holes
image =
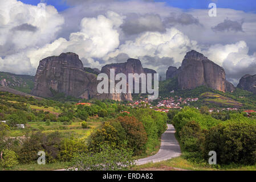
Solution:
[[[64,23],[53,6],[44,3],[31,6],[16,0],[0,1],[0,17],[0,46],[12,52],[55,40]],[[0,55],[6,56],[8,52],[0,50]]]

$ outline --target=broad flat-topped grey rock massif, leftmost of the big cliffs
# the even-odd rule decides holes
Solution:
[[[83,63],[75,53],[62,53],[40,61],[32,94],[53,97],[55,93],[85,99],[131,100],[122,94],[98,94],[96,75],[84,71]]]

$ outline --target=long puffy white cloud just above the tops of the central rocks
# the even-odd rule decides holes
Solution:
[[[121,44],[119,49],[109,53],[105,59],[126,53],[131,57],[172,57],[174,61],[180,62],[188,50],[197,49],[196,44],[196,41],[190,40],[176,28],[168,28],[164,34],[145,32],[134,41],[129,40]]]

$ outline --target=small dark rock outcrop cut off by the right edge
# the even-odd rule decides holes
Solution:
[[[245,75],[239,80],[237,88],[256,93],[256,75]]]

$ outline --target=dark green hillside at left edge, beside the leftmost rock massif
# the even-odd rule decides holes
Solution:
[[[34,86],[34,76],[0,72],[0,85],[21,92],[31,93]]]

